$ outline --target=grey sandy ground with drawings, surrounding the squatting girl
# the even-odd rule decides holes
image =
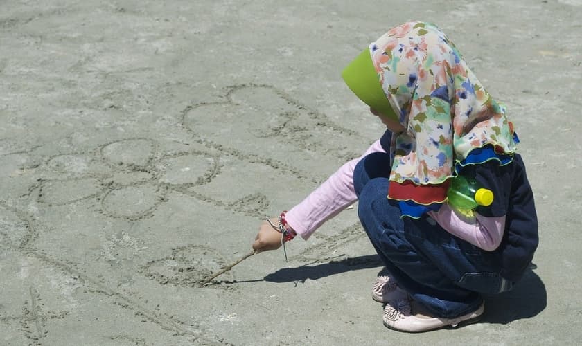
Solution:
[[[579,345],[581,18],[581,0],[0,1],[0,345]],[[382,134],[340,71],[408,19],[508,105],[536,268],[479,324],[390,331],[346,210],[289,262],[201,286]]]

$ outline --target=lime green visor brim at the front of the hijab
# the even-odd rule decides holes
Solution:
[[[372,64],[369,48],[364,49],[358,57],[346,66],[342,71],[342,78],[344,78],[344,82],[348,84],[351,91],[365,104],[398,122],[398,116],[396,116],[380,85],[378,73],[376,73],[376,69]]]

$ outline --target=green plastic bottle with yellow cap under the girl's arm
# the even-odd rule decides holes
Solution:
[[[482,188],[475,179],[461,175],[451,179],[447,192],[447,202],[459,210],[490,206],[493,198],[493,191]]]

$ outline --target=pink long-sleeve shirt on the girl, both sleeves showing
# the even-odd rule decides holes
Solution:
[[[373,152],[385,152],[380,140],[376,140],[360,158],[342,165],[306,199],[289,210],[286,215],[289,226],[303,239],[308,239],[325,221],[357,201],[353,188],[353,170],[364,156]],[[438,212],[428,212],[428,215],[448,233],[485,251],[493,251],[499,246],[505,229],[504,216],[484,217],[475,213],[472,219],[461,218],[447,203]]]

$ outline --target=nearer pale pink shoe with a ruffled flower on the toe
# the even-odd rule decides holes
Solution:
[[[459,324],[468,325],[477,322],[483,315],[485,305],[481,304],[477,310],[456,318],[432,317],[423,312],[421,307],[414,300],[398,300],[395,303],[387,303],[384,308],[384,325],[397,331],[407,331],[418,333],[430,331],[442,327],[457,327]]]

